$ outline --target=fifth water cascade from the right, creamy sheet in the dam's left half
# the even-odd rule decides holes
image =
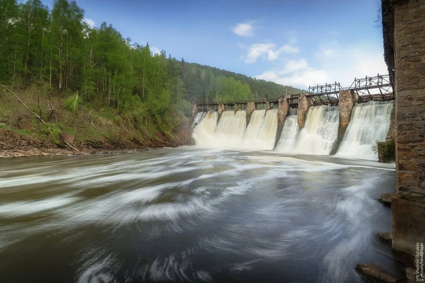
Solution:
[[[216,146],[240,147],[246,128],[246,111],[228,110],[221,113],[215,130]]]

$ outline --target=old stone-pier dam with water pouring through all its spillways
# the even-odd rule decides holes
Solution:
[[[371,146],[393,139],[387,137],[394,127],[390,125],[394,101],[386,79],[380,75],[355,79],[351,89],[337,83],[315,86],[302,95],[267,101],[193,105],[193,138],[201,147],[377,161]],[[372,90],[380,94],[369,94]]]

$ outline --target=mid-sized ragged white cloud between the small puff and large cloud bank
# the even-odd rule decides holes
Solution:
[[[279,58],[283,53],[297,53],[299,48],[285,44],[282,47],[275,49],[276,45],[272,42],[255,43],[249,46],[248,54],[246,55],[245,62],[247,64],[255,62],[259,57],[274,61]]]

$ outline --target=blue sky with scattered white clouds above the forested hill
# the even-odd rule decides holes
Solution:
[[[52,0],[43,0],[52,7]],[[229,71],[308,88],[387,74],[380,0],[77,0],[92,26]],[[378,21],[377,21],[378,20]]]

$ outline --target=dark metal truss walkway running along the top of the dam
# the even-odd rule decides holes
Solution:
[[[340,91],[354,91],[357,94],[357,102],[368,101],[389,101],[394,99],[394,89],[389,75],[365,76],[365,78],[354,78],[350,86],[342,87],[339,82],[334,82],[325,85],[309,86],[305,96],[312,100],[313,105],[337,105],[338,93]],[[297,108],[299,94],[292,94],[289,98],[289,105],[291,108]],[[281,96],[282,98],[283,96]],[[235,109],[235,104],[238,109],[246,109],[248,102],[254,102],[256,109],[266,108],[266,102],[269,102],[270,107],[278,106],[278,98],[272,99],[257,99],[254,101],[232,101],[221,102],[226,109]],[[208,110],[217,110],[219,102],[200,103],[197,104],[198,112]]]

